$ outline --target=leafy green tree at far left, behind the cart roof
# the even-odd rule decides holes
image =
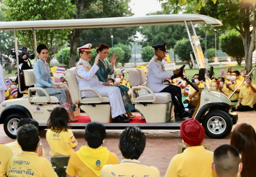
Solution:
[[[59,20],[71,19],[75,14],[75,6],[71,0],[2,0],[1,9],[7,21],[31,21],[31,20]],[[64,45],[69,34],[65,30],[36,30],[37,43],[45,44],[49,49],[50,64],[52,56],[57,52],[58,46]],[[17,37],[22,46],[34,50],[32,31],[17,31]]]

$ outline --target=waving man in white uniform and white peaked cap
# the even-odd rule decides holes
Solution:
[[[126,110],[123,106],[120,89],[118,87],[109,87],[111,84],[101,82],[95,75],[95,73],[99,70],[97,64],[100,54],[97,55],[93,66],[89,64],[92,52],[91,46],[91,44],[86,44],[78,48],[80,55],[80,59],[76,65],[76,79],[78,82],[78,88],[94,88],[102,96],[109,97],[113,123],[128,123],[129,121],[126,119],[126,116],[123,116],[123,114],[126,113]],[[82,97],[97,97],[97,95],[92,91],[85,91],[82,92]]]

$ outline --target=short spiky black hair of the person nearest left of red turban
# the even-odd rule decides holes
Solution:
[[[119,146],[123,157],[128,159],[138,159],[145,149],[146,137],[139,127],[126,127],[123,130]]]

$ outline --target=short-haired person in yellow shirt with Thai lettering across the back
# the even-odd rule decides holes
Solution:
[[[37,151],[42,151],[42,146],[35,125],[26,124],[19,127],[17,141],[22,151],[9,161],[8,177],[57,177],[50,162],[38,156]]]

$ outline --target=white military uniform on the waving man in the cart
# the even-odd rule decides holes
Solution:
[[[91,67],[88,61],[80,59],[76,65],[78,88],[94,88],[102,96],[109,97],[112,118],[126,113],[120,89],[118,87],[103,86],[103,82],[95,75],[99,69],[96,64]],[[97,95],[92,91],[85,91],[82,92],[82,97],[97,97]]]

